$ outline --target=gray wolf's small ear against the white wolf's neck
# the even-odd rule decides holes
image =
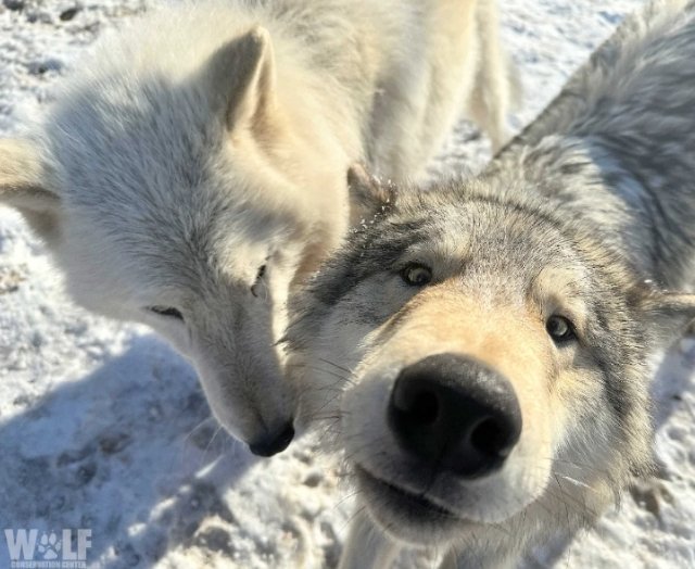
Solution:
[[[348,169],[348,191],[352,225],[395,205],[397,195],[391,180],[383,182],[376,176],[371,176],[362,164],[353,164]]]

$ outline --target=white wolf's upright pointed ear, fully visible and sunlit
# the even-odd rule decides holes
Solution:
[[[210,88],[227,128],[267,125],[276,105],[275,56],[270,34],[256,26],[235,38],[212,56]]]

